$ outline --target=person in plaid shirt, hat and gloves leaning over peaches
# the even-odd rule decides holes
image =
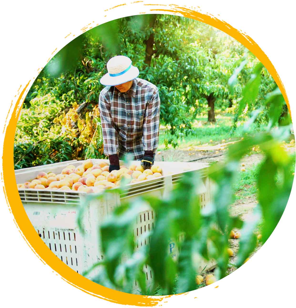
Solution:
[[[107,70],[100,80],[106,87],[100,93],[99,110],[109,172],[119,170],[119,159],[128,153],[148,169],[158,147],[158,89],[137,78],[139,70],[128,57],[111,58]]]

